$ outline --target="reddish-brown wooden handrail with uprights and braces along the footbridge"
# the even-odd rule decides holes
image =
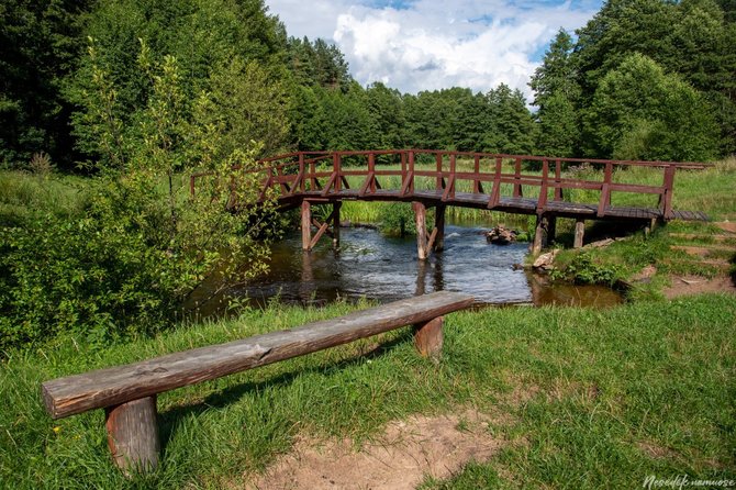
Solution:
[[[401,163],[400,169],[380,169],[377,168],[378,157],[392,156]],[[434,156],[435,169],[426,168],[425,164],[417,167],[420,157],[426,158]],[[352,157],[367,159],[366,166],[348,166],[343,168],[343,160]],[[458,170],[458,158],[468,158],[473,160],[473,170]],[[503,171],[503,164],[511,162],[513,174]],[[481,169],[488,168],[488,171]],[[542,174],[528,174],[523,171],[524,163],[536,163],[542,167]],[[562,158],[546,157],[538,155],[510,155],[493,153],[473,153],[455,151],[435,151],[435,149],[380,149],[380,151],[335,151],[335,152],[293,152],[283,155],[259,160],[261,168],[248,169],[247,172],[265,172],[263,179],[265,189],[272,186],[280,188],[280,196],[292,197],[297,192],[319,190],[323,197],[328,197],[332,192],[341,191],[343,188],[349,189],[346,177],[366,177],[360,186],[360,196],[375,194],[380,188],[376,177],[379,176],[400,176],[401,196],[409,196],[414,192],[414,182],[417,177],[434,178],[436,181],[435,191],[442,191],[443,200],[455,197],[457,182],[468,180],[472,182],[473,193],[483,193],[482,183],[492,182],[493,191],[489,198],[489,209],[499,202],[500,186],[512,185],[513,197],[523,197],[523,187],[540,188],[537,213],[546,210],[549,190],[553,191],[554,201],[564,199],[565,189],[590,189],[601,192],[598,203],[598,214],[603,216],[606,209],[611,207],[612,192],[636,192],[659,194],[659,208],[665,219],[672,218],[672,191],[674,183],[674,172],[678,169],[704,169],[712,164],[687,162],[646,162],[646,160],[621,160],[621,159],[595,159],[595,158]],[[582,178],[570,178],[562,175],[562,166],[570,164],[587,164],[591,166],[603,166],[602,180],[589,180]],[[613,181],[615,168],[623,166],[638,166],[662,169],[662,185],[651,186],[644,183],[623,183]],[[234,168],[237,169],[237,168]],[[190,191],[194,194],[196,180],[204,177],[207,172],[198,172],[191,176]],[[328,179],[324,185],[321,179]],[[308,186],[309,182],[309,186]]]

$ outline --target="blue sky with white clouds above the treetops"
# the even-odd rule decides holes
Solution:
[[[527,83],[560,27],[572,33],[602,0],[266,0],[291,36],[322,37],[363,86],[487,92]]]

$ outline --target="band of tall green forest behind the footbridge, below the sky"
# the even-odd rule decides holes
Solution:
[[[336,46],[290,37],[261,0],[11,0],[0,11],[0,166],[131,158],[161,76],[178,120],[213,123],[198,114],[207,94],[223,145],[256,141],[259,155],[416,147],[714,159],[736,152],[734,12],[731,0],[610,0],[551,40],[528,101],[505,85],[363,87]],[[191,144],[170,146],[187,167],[197,165]]]

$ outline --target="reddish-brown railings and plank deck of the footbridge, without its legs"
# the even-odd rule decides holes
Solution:
[[[401,169],[390,169],[377,164],[377,157],[394,163],[401,162]],[[434,157],[435,169],[417,167],[415,162],[422,157]],[[364,159],[365,166],[344,167],[342,160]],[[473,160],[471,171],[456,165],[457,158]],[[444,162],[449,159],[449,168]],[[332,162],[332,168],[328,168]],[[447,152],[434,149],[386,149],[365,152],[299,152],[278,155],[260,162],[263,168],[253,170],[263,175],[261,196],[275,194],[280,209],[297,208],[305,199],[323,199],[332,202],[360,199],[380,201],[422,201],[431,205],[458,205],[464,208],[491,209],[520,214],[546,214],[572,219],[660,220],[707,221],[707,216],[698,211],[678,211],[672,209],[674,175],[678,169],[703,169],[710,164],[643,162],[643,160],[600,160],[579,158],[555,158],[554,170],[550,159],[533,155],[499,155],[488,153]],[[317,166],[316,164],[320,164]],[[524,172],[525,165],[542,166],[542,175]],[[600,169],[600,175],[591,174],[590,179],[566,175],[562,165],[589,165]],[[325,168],[327,167],[327,168]],[[648,167],[662,172],[659,186],[644,183],[616,182],[616,168]],[[196,192],[197,179],[207,174],[196,174],[190,179],[190,191]],[[361,177],[363,185],[349,189],[348,178]],[[397,177],[397,187],[382,188],[378,178]],[[415,180],[434,181],[430,189],[415,189]],[[386,180],[384,180],[386,182]],[[492,185],[490,194],[484,193],[483,182]],[[309,183],[309,189],[306,183]],[[434,187],[434,188],[432,188]],[[511,196],[502,196],[502,187],[511,188]],[[538,198],[529,198],[525,188],[536,188]],[[276,191],[267,192],[268,189]],[[469,189],[470,191],[459,191]],[[598,191],[598,202],[570,202],[566,189],[588,189]],[[548,192],[553,199],[548,199]],[[629,208],[613,205],[613,194],[633,192],[659,197],[657,208]]]

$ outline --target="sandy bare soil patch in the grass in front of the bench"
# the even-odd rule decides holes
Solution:
[[[447,478],[471,460],[489,460],[508,441],[499,421],[476,410],[412,416],[355,447],[350,439],[299,441],[247,489],[414,489],[426,476]],[[504,423],[508,421],[501,421]]]

